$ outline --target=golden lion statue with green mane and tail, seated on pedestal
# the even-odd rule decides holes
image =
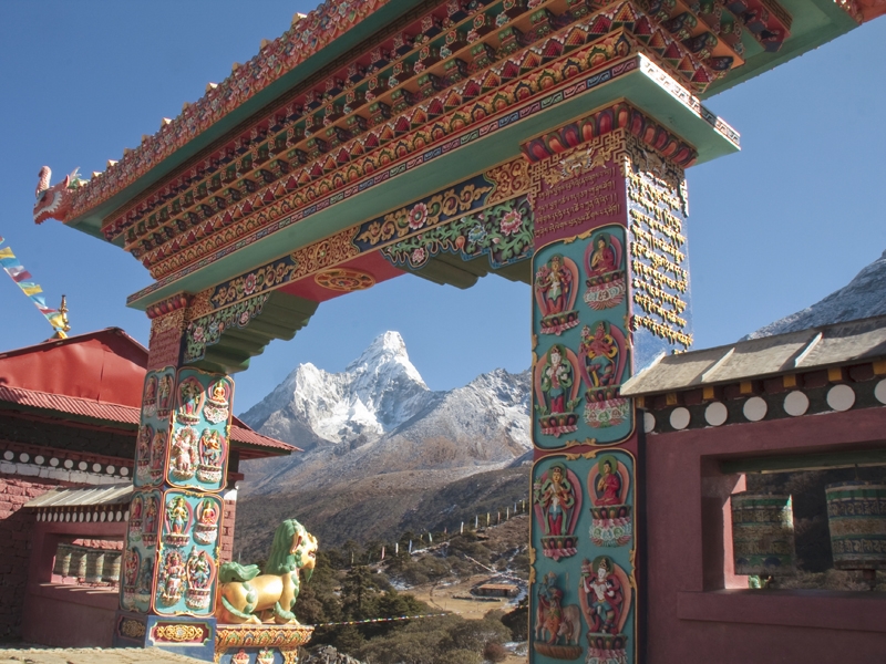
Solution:
[[[218,571],[218,599],[215,615],[219,623],[299,624],[296,605],[301,579],[313,573],[317,538],[295,519],[280,523],[274,533],[268,564],[259,575],[258,566],[226,562]]]

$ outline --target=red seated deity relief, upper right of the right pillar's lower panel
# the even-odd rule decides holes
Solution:
[[[630,461],[628,461],[630,463]],[[631,474],[611,454],[600,457],[588,474],[590,541],[597,547],[624,547],[633,537]]]

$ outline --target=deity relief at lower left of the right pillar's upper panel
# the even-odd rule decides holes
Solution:
[[[563,344],[555,343],[535,366],[536,421],[543,434],[559,437],[576,430],[576,406],[581,374],[578,357]]]

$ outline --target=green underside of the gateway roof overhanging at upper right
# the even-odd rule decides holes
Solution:
[[[779,1],[793,18],[791,37],[784,41],[779,51],[767,53],[745,32],[742,39],[746,50],[744,64],[729,72],[723,79],[714,81],[703,94],[699,95],[702,100],[775,69],[858,27],[858,23],[834,0]]]

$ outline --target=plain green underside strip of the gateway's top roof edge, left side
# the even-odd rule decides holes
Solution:
[[[68,221],[66,226],[105,240],[105,237],[102,234],[102,222],[105,217],[111,215],[117,208],[126,205],[126,203],[148,189],[151,186],[161,181],[165,176],[169,175],[173,170],[185,164],[200,151],[205,149],[214,142],[225,136],[225,134],[234,129],[244,121],[248,120],[251,115],[257,114],[267,105],[272,104],[275,100],[282,96],[289,90],[299,85],[302,81],[307,80],[309,76],[330,64],[337,58],[340,58],[347,53],[354,45],[369,39],[373,33],[383,29],[388,23],[392,22],[399,15],[406,13],[413,7],[421,4],[423,1],[424,0],[396,0],[396,2],[389,2],[388,4],[379,8],[372,14],[346,32],[342,37],[333,40],[330,44],[322,48],[316,54],[296,65],[291,71],[287,72],[270,83],[267,87],[246,100],[243,104],[237,106],[237,108],[225,115],[225,117],[213,124],[205,132],[200,133],[197,137],[189,141],[181,148],[175,151],[172,155],[159,162],[132,185],[120,190],[107,200],[91,208],[85,215],[71,219]],[[122,247],[123,240],[120,238],[114,240],[113,243]]]

